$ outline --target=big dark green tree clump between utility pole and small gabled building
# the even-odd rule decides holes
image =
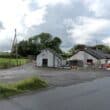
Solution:
[[[53,37],[49,33],[41,33],[39,35],[35,35],[28,40],[23,40],[19,42],[18,54],[20,56],[27,57],[28,55],[37,55],[42,49],[50,48],[55,50],[58,53],[61,53],[60,45],[62,41],[58,37]],[[15,53],[15,49],[13,54]]]

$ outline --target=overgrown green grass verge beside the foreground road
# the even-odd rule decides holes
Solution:
[[[36,77],[31,77],[12,84],[0,84],[0,98],[7,98],[9,96],[45,87],[47,87],[47,83]]]

